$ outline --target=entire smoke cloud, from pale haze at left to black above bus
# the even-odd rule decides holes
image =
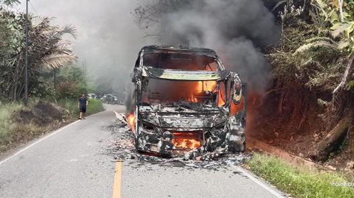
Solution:
[[[24,9],[24,0],[21,0]],[[173,4],[159,16],[160,40],[144,37],[135,24],[139,4]],[[157,8],[160,9],[160,8]],[[149,44],[183,44],[216,50],[227,69],[243,81],[263,88],[269,64],[261,49],[277,44],[280,28],[262,0],[33,0],[34,15],[56,17],[53,23],[77,28],[74,50],[78,65],[99,85],[123,87],[129,81],[137,53]],[[156,34],[156,32],[152,32]],[[106,86],[107,87],[107,86]]]

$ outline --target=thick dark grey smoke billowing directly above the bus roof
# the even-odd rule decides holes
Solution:
[[[270,66],[261,49],[278,43],[280,27],[261,0],[187,0],[177,5],[161,15],[162,44],[212,48],[253,89],[265,87]]]

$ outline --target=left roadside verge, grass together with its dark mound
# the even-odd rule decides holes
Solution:
[[[103,110],[101,100],[89,99],[86,116]],[[77,98],[0,103],[0,153],[77,120],[78,112]]]

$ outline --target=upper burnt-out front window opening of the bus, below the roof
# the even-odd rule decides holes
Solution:
[[[143,55],[146,67],[172,70],[219,71],[215,57],[186,52],[154,52]]]

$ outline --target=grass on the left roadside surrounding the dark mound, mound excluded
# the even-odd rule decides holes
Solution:
[[[31,99],[28,107],[20,102],[1,103],[0,102],[0,153],[26,143],[42,134],[68,124],[76,119],[78,115],[77,101],[63,99],[58,101],[58,105],[66,109],[67,113],[63,120],[53,120],[46,125],[38,125],[33,122],[18,123],[12,119],[14,112],[19,110],[29,110],[36,106],[39,99]],[[103,104],[100,100],[89,100],[86,115],[91,115],[103,111]]]

